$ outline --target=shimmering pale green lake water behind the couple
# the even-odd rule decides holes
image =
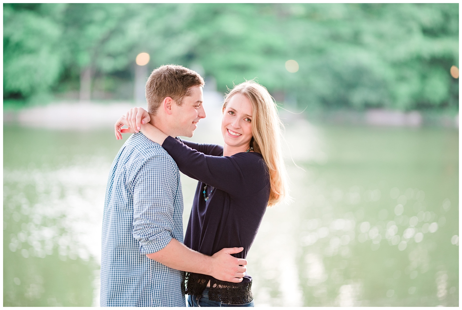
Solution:
[[[200,128],[192,140],[219,142]],[[4,306],[99,305],[104,191],[127,137],[4,127]],[[255,306],[458,306],[456,129],[298,119],[286,139],[293,203],[267,209],[249,252]],[[182,184],[186,222],[196,181]]]

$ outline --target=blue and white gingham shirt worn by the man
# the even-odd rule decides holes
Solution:
[[[101,249],[103,307],[185,307],[181,271],[146,257],[183,242],[183,197],[175,161],[141,132],[112,163]]]

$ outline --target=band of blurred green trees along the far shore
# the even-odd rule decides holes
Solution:
[[[134,60],[299,107],[458,109],[458,4],[4,4],[4,103],[133,100]],[[285,69],[296,60],[298,72]]]

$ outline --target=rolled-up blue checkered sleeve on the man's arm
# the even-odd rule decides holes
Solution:
[[[133,237],[140,253],[162,250],[172,239],[176,182],[171,163],[155,156],[140,167],[133,183]]]

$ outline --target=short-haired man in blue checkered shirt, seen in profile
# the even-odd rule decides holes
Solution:
[[[166,134],[192,137],[204,118],[199,74],[162,66],[146,83],[151,122]],[[138,129],[139,130],[139,129]],[[122,135],[118,133],[122,138]],[[183,199],[175,161],[141,132],[114,160],[106,190],[101,259],[101,306],[186,306],[182,272],[240,282],[243,248],[206,256],[183,242]]]

